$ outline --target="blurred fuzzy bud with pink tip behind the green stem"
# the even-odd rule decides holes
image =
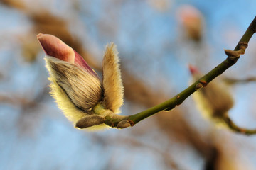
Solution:
[[[189,69],[193,76],[193,81],[197,81],[202,77],[201,72],[199,72],[196,67],[190,65]],[[202,86],[200,84],[201,83],[197,86],[205,86],[205,84],[202,84]],[[217,80],[210,82],[210,84],[204,88],[198,89],[198,91],[193,94],[193,98],[203,115],[207,118],[217,118],[215,120],[223,118],[230,108],[233,107],[234,103],[227,87]]]

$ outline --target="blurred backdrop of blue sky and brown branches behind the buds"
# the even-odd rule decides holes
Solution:
[[[133,128],[77,130],[48,94],[38,33],[73,47],[101,74],[105,45],[119,50],[122,115],[188,86],[188,64],[208,72],[225,60],[255,17],[256,1],[1,0],[0,169],[256,169],[256,135],[202,117],[192,97]],[[256,38],[223,79],[256,77]],[[256,128],[255,81],[229,81],[230,117]]]

